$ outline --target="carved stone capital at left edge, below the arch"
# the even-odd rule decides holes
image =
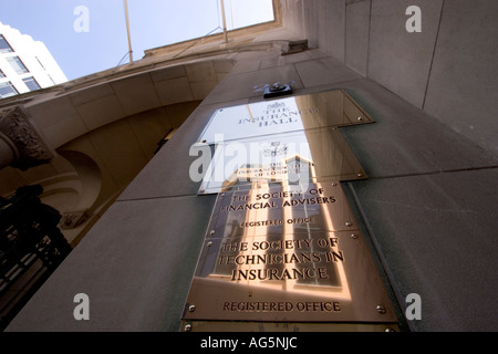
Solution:
[[[0,132],[18,148],[19,159],[12,164],[13,167],[25,170],[53,158],[50,148],[19,106],[0,112]]]

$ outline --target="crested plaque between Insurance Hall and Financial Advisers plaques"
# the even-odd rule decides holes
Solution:
[[[217,144],[199,195],[248,189],[255,183],[307,185],[364,178],[341,132],[325,127]]]

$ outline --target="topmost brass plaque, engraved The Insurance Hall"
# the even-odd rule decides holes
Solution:
[[[295,95],[217,110],[199,142],[225,142],[373,122],[343,90]]]

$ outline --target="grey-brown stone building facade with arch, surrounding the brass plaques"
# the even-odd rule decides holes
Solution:
[[[375,119],[341,128],[367,175],[342,185],[406,327],[497,330],[498,27],[485,20],[497,3],[415,1],[422,32],[408,32],[412,2],[274,1],[274,22],[228,43],[153,49],[0,102],[1,122],[19,110],[49,160],[6,167],[2,192],[42,180],[75,246],[7,330],[183,330],[217,202],[198,195],[190,147],[217,110],[264,102],[277,82],[292,95],[344,90]],[[0,142],[2,156],[19,145]],[[73,316],[79,293],[87,321]],[[421,320],[404,316],[409,294]]]

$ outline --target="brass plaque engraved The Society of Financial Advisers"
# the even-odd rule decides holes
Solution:
[[[357,229],[340,184],[260,187],[221,192],[207,238],[234,238]]]

